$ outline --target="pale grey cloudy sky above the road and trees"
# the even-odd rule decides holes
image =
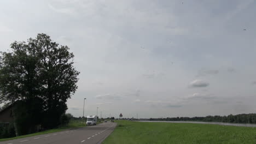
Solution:
[[[50,35],[74,53],[75,117],[256,111],[256,1],[2,0],[0,51]]]

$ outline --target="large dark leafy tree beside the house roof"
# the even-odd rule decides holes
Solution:
[[[0,59],[0,103],[19,100],[31,105],[28,111],[41,106],[44,127],[56,127],[67,110],[67,99],[77,89],[73,53],[43,33],[27,43],[15,41],[11,50]]]

